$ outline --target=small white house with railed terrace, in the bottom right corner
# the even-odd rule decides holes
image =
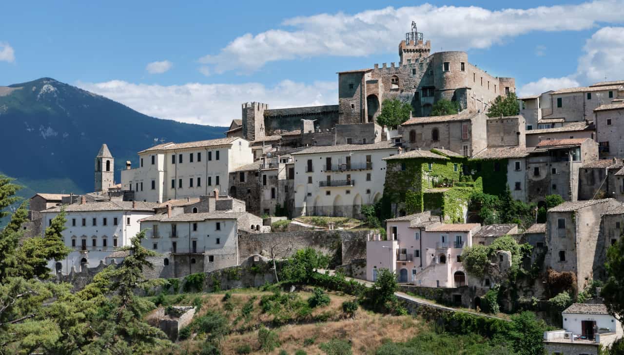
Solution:
[[[548,354],[598,355],[598,346],[608,348],[622,338],[622,324],[605,305],[574,303],[562,313],[563,329],[544,332]]]

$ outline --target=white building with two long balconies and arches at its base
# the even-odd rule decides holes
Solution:
[[[295,158],[295,214],[360,217],[363,205],[378,201],[386,162],[397,154],[390,141],[314,146]]]

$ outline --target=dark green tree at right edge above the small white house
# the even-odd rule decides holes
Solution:
[[[607,250],[608,279],[602,288],[601,295],[605,298],[607,310],[624,324],[624,238],[620,237]],[[624,347],[622,347],[624,348]]]

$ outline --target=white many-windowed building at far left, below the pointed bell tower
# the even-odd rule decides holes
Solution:
[[[51,260],[48,267],[64,275],[74,267],[77,272],[85,265],[96,267],[112,252],[129,244],[139,233],[139,220],[153,215],[154,207],[156,204],[136,201],[87,203],[84,197],[79,204],[66,206],[67,229],[62,235],[65,245],[73,251],[65,260]],[[60,211],[60,206],[41,211],[42,235]]]

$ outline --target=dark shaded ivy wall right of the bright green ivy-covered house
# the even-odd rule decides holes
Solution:
[[[469,159],[467,170],[474,181],[481,179],[486,194],[502,196],[507,189],[507,159]]]

